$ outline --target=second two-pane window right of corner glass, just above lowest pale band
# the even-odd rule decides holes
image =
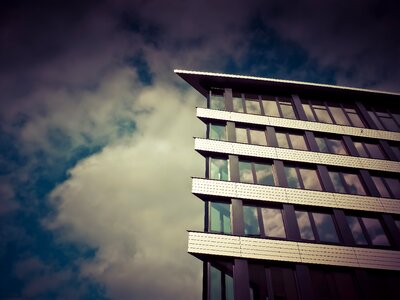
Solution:
[[[302,239],[327,243],[339,242],[331,214],[298,210],[295,213]]]

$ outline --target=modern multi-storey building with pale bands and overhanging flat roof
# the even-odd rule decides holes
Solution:
[[[203,299],[400,299],[400,94],[175,73],[207,99]]]

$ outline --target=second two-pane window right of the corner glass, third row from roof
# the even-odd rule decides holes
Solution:
[[[317,170],[304,167],[285,166],[288,187],[322,191]]]

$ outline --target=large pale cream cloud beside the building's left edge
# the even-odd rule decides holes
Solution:
[[[111,298],[200,297],[201,266],[186,253],[185,231],[201,230],[203,220],[190,192],[190,176],[203,168],[192,139],[204,131],[198,101],[168,86],[143,90],[132,139],[81,161],[51,193],[57,211],[46,226],[96,249],[80,262],[81,274]]]

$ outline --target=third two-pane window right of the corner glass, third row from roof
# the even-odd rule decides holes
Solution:
[[[329,177],[337,193],[366,195],[358,174],[329,171]]]

